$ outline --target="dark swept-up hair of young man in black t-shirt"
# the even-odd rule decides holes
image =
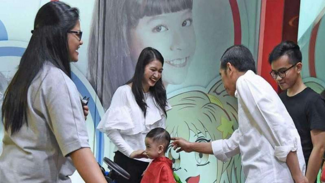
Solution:
[[[269,63],[272,64],[275,60],[278,60],[283,55],[289,57],[290,64],[297,64],[302,62],[303,56],[300,51],[300,47],[292,41],[284,41],[275,46],[269,55]]]

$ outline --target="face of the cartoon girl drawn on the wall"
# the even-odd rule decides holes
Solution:
[[[206,133],[197,135],[190,130],[190,142],[209,142],[211,137]],[[169,147],[166,157],[173,161],[173,170],[183,183],[215,183],[217,170],[217,159],[213,155],[191,152],[176,153],[173,147]],[[221,170],[219,170],[221,171]]]

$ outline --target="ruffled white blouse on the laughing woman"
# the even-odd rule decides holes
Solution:
[[[97,129],[106,133],[115,144],[115,150],[124,155],[139,149],[146,149],[145,137],[154,128],[166,128],[166,115],[155,102],[154,97],[144,93],[147,103],[147,113],[144,116],[142,110],[135,101],[129,85],[119,87],[114,93],[109,109],[106,111]],[[166,111],[172,109],[167,104]],[[137,159],[149,162],[149,159]]]

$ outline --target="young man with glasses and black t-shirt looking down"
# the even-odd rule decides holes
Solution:
[[[279,96],[292,117],[303,146],[306,178],[316,183],[325,151],[325,99],[303,84],[302,53],[297,44],[285,41],[269,56],[272,71],[282,92]]]

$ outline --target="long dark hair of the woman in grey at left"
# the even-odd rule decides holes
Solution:
[[[67,31],[79,20],[79,10],[61,1],[44,4],[36,14],[34,30],[10,82],[2,104],[4,129],[11,135],[27,122],[27,91],[46,61],[71,77]]]

